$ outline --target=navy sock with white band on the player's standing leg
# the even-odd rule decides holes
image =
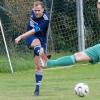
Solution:
[[[35,89],[35,91],[39,91],[41,81],[42,81],[42,72],[36,72],[35,73],[35,79],[36,79],[36,89]]]

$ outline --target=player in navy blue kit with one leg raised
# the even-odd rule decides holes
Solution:
[[[26,33],[18,36],[15,43],[18,44],[21,40],[25,40],[27,46],[34,51],[35,63],[35,79],[36,88],[35,96],[39,96],[40,85],[42,81],[42,66],[46,58],[46,35],[49,25],[48,14],[45,10],[43,2],[40,0],[34,1],[34,8],[28,23]]]

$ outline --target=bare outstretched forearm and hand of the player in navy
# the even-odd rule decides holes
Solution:
[[[22,39],[25,39],[25,38],[27,38],[28,36],[30,36],[30,35],[32,35],[32,34],[34,34],[34,33],[35,33],[35,30],[34,30],[34,29],[25,32],[24,34],[18,36],[18,37],[15,39],[15,43],[16,43],[16,44],[19,44],[19,42],[20,42]]]

